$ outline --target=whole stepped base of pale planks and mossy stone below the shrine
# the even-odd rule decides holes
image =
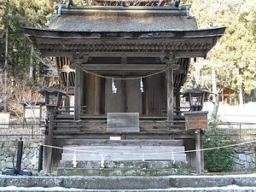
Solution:
[[[75,164],[75,166],[74,166]],[[66,140],[59,176],[187,175],[182,140]]]

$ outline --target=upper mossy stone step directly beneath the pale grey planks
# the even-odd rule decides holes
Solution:
[[[102,161],[100,160],[78,160],[76,161],[76,168],[102,168]],[[187,161],[172,161],[172,160],[149,160],[149,161],[134,161],[134,160],[125,160],[125,161],[104,161],[104,167],[113,168],[113,169],[181,169],[188,168]],[[61,167],[72,168],[73,161],[71,160],[61,160]]]

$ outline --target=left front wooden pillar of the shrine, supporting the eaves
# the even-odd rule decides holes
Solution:
[[[81,117],[81,96],[82,96],[82,69],[80,64],[75,64],[75,93],[74,93],[74,120]]]

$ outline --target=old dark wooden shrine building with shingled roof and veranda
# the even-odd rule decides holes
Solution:
[[[119,137],[182,139],[191,148],[195,136],[185,130],[180,90],[190,59],[206,58],[225,28],[198,29],[189,8],[61,5],[49,28],[24,28],[44,56],[55,57],[73,96],[73,106],[68,101],[55,115],[56,146],[67,139]],[[137,113],[139,127],[108,131],[108,113]],[[61,154],[55,157],[58,164]]]

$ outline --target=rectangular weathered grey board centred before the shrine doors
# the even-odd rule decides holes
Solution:
[[[139,113],[108,113],[107,132],[139,131]]]

